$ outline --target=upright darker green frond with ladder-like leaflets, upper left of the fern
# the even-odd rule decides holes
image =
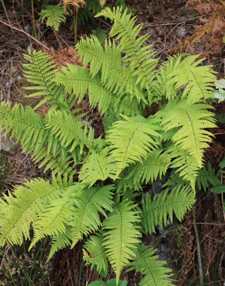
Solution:
[[[66,94],[63,92],[63,86],[59,85],[52,81],[54,74],[57,70],[54,68],[57,64],[54,64],[54,61],[51,60],[51,56],[41,52],[33,51],[29,54],[23,54],[25,60],[29,63],[23,63],[22,66],[26,68],[23,71],[24,76],[27,78],[27,81],[35,84],[34,86],[24,87],[28,90],[35,90],[27,97],[43,97],[44,98],[35,106],[34,110],[37,109],[40,105],[48,102],[53,104],[55,107],[67,108],[67,103],[65,102]]]

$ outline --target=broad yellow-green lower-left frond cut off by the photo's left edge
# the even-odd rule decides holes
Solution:
[[[30,239],[30,225],[35,225],[37,216],[43,212],[47,204],[54,199],[60,198],[62,191],[66,188],[59,186],[56,180],[50,184],[43,179],[37,178],[26,181],[24,186],[15,186],[12,196],[4,195],[7,208],[2,208],[1,212],[1,238],[0,244],[22,244],[23,235],[25,239]]]

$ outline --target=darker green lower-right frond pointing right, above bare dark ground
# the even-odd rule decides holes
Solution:
[[[195,201],[195,193],[188,187],[176,186],[168,194],[170,188],[155,195],[153,199],[146,193],[145,200],[142,198],[141,221],[144,230],[155,233],[155,225],[162,227],[163,220],[166,225],[167,214],[173,223],[173,212],[177,219],[181,221],[186,210],[190,210]]]

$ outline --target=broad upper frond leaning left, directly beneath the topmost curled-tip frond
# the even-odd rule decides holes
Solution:
[[[137,76],[132,76],[132,68],[126,68],[122,65],[120,46],[115,46],[105,39],[105,47],[103,48],[96,36],[81,38],[76,49],[80,59],[83,58],[83,65],[90,63],[90,73],[94,77],[98,71],[101,72],[101,83],[110,92],[132,93],[138,100],[144,99],[141,88],[136,84]]]

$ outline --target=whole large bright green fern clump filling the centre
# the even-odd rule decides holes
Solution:
[[[196,184],[217,182],[211,169],[204,171],[207,181],[201,178],[209,128],[216,127],[212,106],[205,103],[213,98],[214,71],[199,65],[199,55],[187,54],[157,67],[155,51],[143,46],[149,35],[138,37],[142,24],[135,26],[131,14],[106,7],[97,16],[113,26],[104,48],[96,36],[76,45],[90,70],[71,64],[56,69],[50,56],[34,51],[24,55],[23,67],[34,84],[27,87],[34,91],[30,96],[40,96],[40,103],[25,109],[0,105],[5,134],[11,131],[35,163],[52,170],[51,180],[26,181],[1,199],[0,243],[32,239],[31,249],[50,236],[49,260],[87,237],[86,264],[105,273],[110,263],[116,285],[128,266],[142,274],[140,286],[169,286],[171,270],[141,238],[168,217],[181,221],[195,202]],[[103,118],[103,137],[95,136],[86,113],[74,106],[87,93]],[[46,102],[50,108],[42,118],[35,110]],[[149,115],[153,103],[158,109]],[[151,197],[149,186],[171,168],[168,182]]]

